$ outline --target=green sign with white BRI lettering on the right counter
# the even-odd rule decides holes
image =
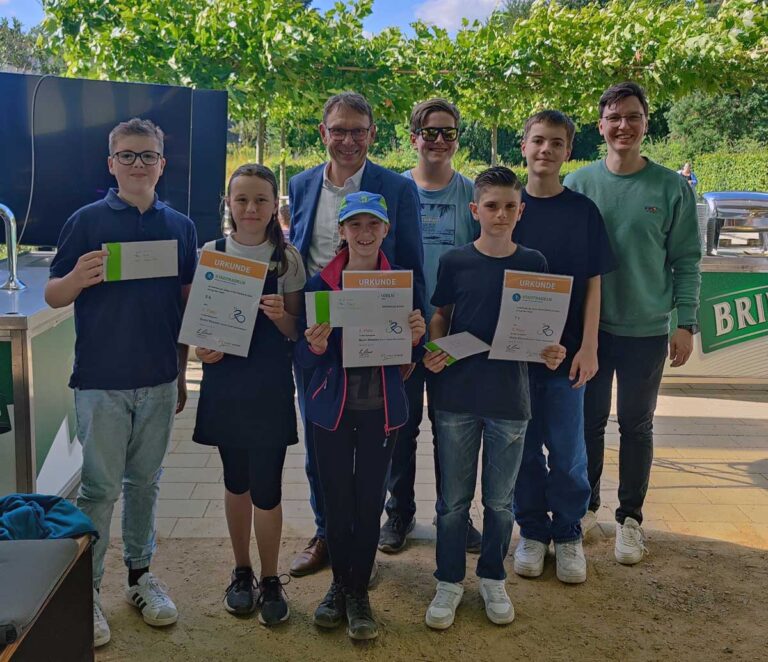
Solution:
[[[703,273],[701,346],[705,354],[768,336],[765,274]]]

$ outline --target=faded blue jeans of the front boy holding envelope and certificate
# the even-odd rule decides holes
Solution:
[[[442,582],[460,582],[466,568],[469,507],[475,494],[482,441],[483,543],[477,576],[504,579],[504,559],[512,537],[512,496],[523,456],[527,421],[435,413],[440,443],[437,502],[437,571]]]

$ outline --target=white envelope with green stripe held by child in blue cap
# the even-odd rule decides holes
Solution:
[[[307,325],[328,322],[333,327],[408,325],[413,309],[410,288],[307,292]]]

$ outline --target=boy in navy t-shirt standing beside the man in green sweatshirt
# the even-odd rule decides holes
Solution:
[[[573,122],[555,110],[536,113],[523,131],[528,183],[514,239],[541,251],[552,273],[573,276],[573,289],[560,341],[565,361],[554,372],[537,364],[528,368],[532,416],[515,487],[521,540],[514,569],[518,575],[538,577],[554,541],[558,579],[577,584],[587,578],[580,520],[591,493],[584,385],[598,367],[600,276],[615,268],[615,260],[597,206],[560,184],[560,167],[570,156],[574,131]],[[542,446],[547,447],[546,458]]]

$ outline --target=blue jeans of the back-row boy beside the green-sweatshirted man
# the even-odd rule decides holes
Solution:
[[[573,388],[567,375],[536,370],[529,370],[529,382],[532,418],[515,484],[515,519],[524,538],[545,545],[552,540],[578,540],[591,494],[584,445],[584,388]]]

